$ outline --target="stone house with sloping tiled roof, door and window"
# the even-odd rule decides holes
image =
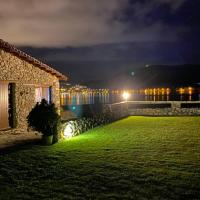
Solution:
[[[27,128],[26,117],[45,98],[60,106],[66,76],[0,39],[0,131]]]

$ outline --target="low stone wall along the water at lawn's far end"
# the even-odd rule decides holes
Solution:
[[[127,101],[105,105],[116,118],[142,116],[200,116],[200,101]]]

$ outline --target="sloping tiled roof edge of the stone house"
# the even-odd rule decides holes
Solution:
[[[33,64],[35,67],[38,67],[54,76],[56,76],[59,80],[67,80],[67,77],[63,75],[62,73],[58,72],[57,70],[49,67],[48,65],[42,63],[41,61],[37,60],[36,58],[33,58],[32,56],[24,53],[23,51],[17,49],[15,46],[9,44],[8,42],[5,42],[4,40],[0,39],[0,49],[3,49],[17,57],[19,57],[22,60],[25,60],[31,64]]]

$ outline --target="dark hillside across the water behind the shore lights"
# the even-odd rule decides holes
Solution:
[[[84,82],[91,88],[176,87],[200,83],[200,65],[151,65],[122,71],[110,79]]]

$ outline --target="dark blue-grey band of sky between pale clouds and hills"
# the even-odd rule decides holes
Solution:
[[[198,41],[195,45],[200,47]],[[67,75],[71,83],[92,81],[95,87],[99,87],[100,83],[97,81],[95,84],[93,80],[101,80],[102,85],[111,80],[111,85],[118,83],[121,86],[130,78],[132,85],[133,77],[129,77],[130,71],[137,72],[137,69],[143,69],[145,64],[200,64],[200,51],[194,53],[193,48],[191,41],[132,42],[63,48],[21,47],[23,51]],[[143,84],[143,79],[141,80]]]

